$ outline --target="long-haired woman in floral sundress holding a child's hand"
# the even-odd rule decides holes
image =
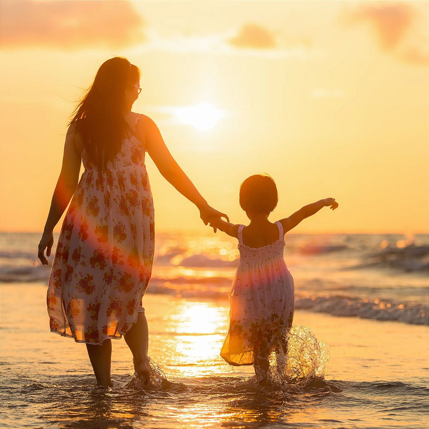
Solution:
[[[114,57],[100,66],[67,131],[63,166],[39,259],[48,264],[52,231],[66,209],[48,285],[51,332],[85,342],[97,384],[111,386],[111,338],[124,335],[134,368],[148,380],[148,326],[142,296],[154,257],[154,208],[145,151],[161,174],[199,208],[221,216],[175,162],[154,122],[131,112],[139,69]],[[85,171],[78,184],[81,159]]]

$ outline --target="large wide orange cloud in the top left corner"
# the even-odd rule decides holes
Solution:
[[[145,40],[129,1],[2,0],[2,48],[124,48]]]

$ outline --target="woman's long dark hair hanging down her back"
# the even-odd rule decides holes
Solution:
[[[140,70],[126,58],[114,57],[98,69],[94,82],[73,111],[76,130],[82,136],[88,158],[105,170],[121,150],[128,124],[124,119],[126,98],[140,78]]]

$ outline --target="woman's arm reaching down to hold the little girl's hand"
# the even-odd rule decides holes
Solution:
[[[207,201],[196,190],[196,187],[180,168],[178,163],[170,154],[160,130],[151,118],[141,115],[142,121],[139,121],[139,127],[143,127],[146,135],[146,147],[148,154],[154,161],[160,173],[169,181],[183,196],[193,202],[199,209],[200,217],[205,225],[208,224],[209,218],[224,217],[228,220],[227,215],[210,207]],[[229,220],[228,220],[229,221]],[[216,230],[216,229],[215,229]]]

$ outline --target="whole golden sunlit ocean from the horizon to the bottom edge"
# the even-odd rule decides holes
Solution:
[[[133,378],[118,340],[109,390],[94,387],[83,344],[49,332],[39,239],[0,233],[2,427],[427,427],[428,235],[286,234],[293,324],[328,344],[330,359],[323,384],[260,386],[251,366],[219,356],[236,241],[159,233],[143,298],[151,384]]]

